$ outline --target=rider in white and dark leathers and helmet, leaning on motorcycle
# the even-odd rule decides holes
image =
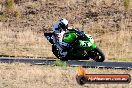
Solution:
[[[63,41],[63,36],[66,32],[76,31],[78,36],[81,38],[86,38],[84,32],[81,32],[79,29],[72,29],[68,27],[68,20],[62,18],[58,21],[57,24],[53,25],[53,42],[56,44],[57,48],[59,49],[59,53],[61,57],[65,58],[68,50],[72,48],[71,44],[68,44]]]

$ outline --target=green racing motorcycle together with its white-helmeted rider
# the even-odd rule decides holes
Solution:
[[[44,36],[52,44],[53,54],[62,61],[105,60],[104,53],[94,43],[92,36],[77,28],[69,29],[66,19],[60,19],[53,26],[53,31],[44,33]]]

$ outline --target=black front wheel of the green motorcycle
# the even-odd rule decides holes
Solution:
[[[95,60],[96,62],[103,62],[105,60],[104,53],[98,47],[96,47],[93,51],[93,60]]]

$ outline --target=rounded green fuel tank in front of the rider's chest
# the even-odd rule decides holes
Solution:
[[[71,43],[77,35],[75,33],[66,33],[63,37],[63,41],[66,43]]]

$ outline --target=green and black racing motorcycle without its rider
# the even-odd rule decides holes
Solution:
[[[63,41],[70,45],[70,48],[68,47],[68,49],[66,49],[68,51],[66,57],[60,55],[59,49],[53,42],[53,33],[44,33],[44,35],[52,44],[53,54],[60,60],[93,59],[96,62],[103,62],[105,60],[103,52],[96,46],[92,36],[90,34],[85,34],[83,31],[72,29],[64,34]]]

